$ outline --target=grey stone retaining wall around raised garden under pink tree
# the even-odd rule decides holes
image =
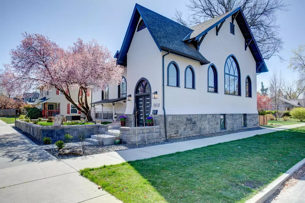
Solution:
[[[38,140],[43,137],[51,137],[52,141],[63,140],[65,134],[70,134],[77,138],[79,133],[84,133],[85,137],[89,138],[91,135],[104,134],[105,131],[108,131],[107,125],[40,126],[20,120],[15,121],[15,126]]]

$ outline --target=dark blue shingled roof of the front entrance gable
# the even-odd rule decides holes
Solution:
[[[201,62],[201,64],[209,63],[209,61],[207,61],[199,53],[193,44],[182,41],[185,36],[192,31],[190,28],[187,28],[167,17],[136,4],[120,50],[120,54],[118,56],[117,63],[119,65],[127,65],[126,54],[131,44],[131,40],[140,16],[142,17],[160,51],[168,50],[173,53],[195,59]]]

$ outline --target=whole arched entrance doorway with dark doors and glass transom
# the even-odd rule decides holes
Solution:
[[[135,113],[137,126],[147,126],[146,118],[149,116],[151,108],[151,87],[147,79],[141,78],[134,90]]]

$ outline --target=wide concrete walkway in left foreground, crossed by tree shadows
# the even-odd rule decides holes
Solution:
[[[121,201],[0,120],[0,202]]]

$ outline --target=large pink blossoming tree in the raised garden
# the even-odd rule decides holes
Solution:
[[[95,39],[88,43],[77,39],[64,50],[43,35],[22,35],[21,44],[10,52],[11,64],[5,65],[6,72],[19,84],[61,91],[88,120],[91,115],[87,92],[105,90],[107,85],[118,85],[122,80],[123,69],[116,66],[111,52]],[[71,90],[84,96],[73,101]]]

